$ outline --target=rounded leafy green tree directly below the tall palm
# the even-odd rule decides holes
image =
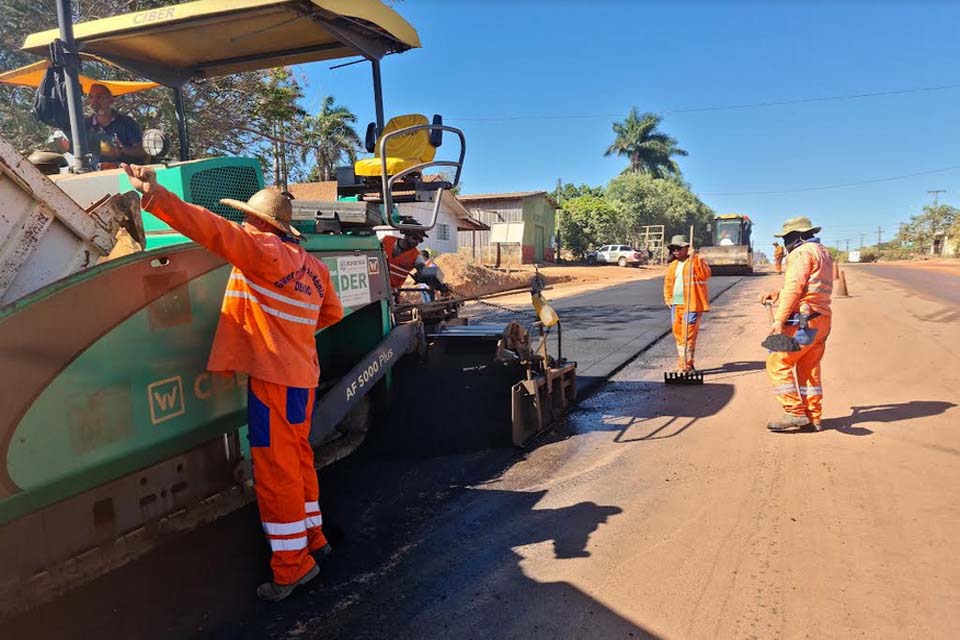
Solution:
[[[673,234],[688,234],[691,225],[698,245],[707,239],[713,210],[676,181],[625,173],[610,181],[607,198],[621,212],[625,231],[633,242],[638,241],[642,227],[659,224],[664,225],[668,240]]]

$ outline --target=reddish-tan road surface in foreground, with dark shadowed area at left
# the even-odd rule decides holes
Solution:
[[[0,635],[958,637],[957,305],[851,269],[826,430],[770,433],[755,300],[778,282],[744,279],[715,303],[702,387],[662,384],[668,339],[524,459],[325,471],[337,551],[286,602],[252,597],[266,552],[248,509]]]

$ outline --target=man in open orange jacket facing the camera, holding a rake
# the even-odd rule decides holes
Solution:
[[[667,273],[663,278],[663,301],[670,307],[673,320],[673,337],[677,342],[677,370],[693,371],[701,318],[705,312],[710,311],[710,295],[707,291],[707,280],[711,275],[710,265],[696,253],[691,254],[686,236],[673,236],[667,249],[670,251],[671,260],[676,262],[667,265]]]

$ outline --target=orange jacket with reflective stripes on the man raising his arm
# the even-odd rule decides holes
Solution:
[[[233,265],[207,369],[316,387],[314,336],[343,317],[326,265],[296,242],[240,226],[162,187],[147,194],[143,208]]]

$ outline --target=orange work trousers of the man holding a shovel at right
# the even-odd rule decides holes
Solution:
[[[813,318],[809,321],[809,327],[816,331],[816,335],[810,344],[801,344],[800,351],[772,351],[767,356],[767,373],[783,412],[806,417],[814,424],[820,424],[823,419],[820,361],[823,359],[827,336],[830,335],[830,324],[830,316]],[[799,327],[792,325],[783,329],[784,334],[795,337],[798,331]]]

